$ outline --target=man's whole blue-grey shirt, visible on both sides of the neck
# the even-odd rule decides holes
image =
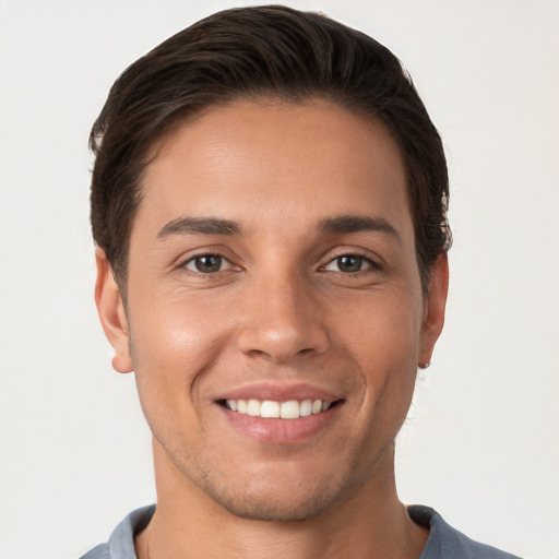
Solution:
[[[495,547],[478,544],[447,524],[432,509],[414,504],[408,507],[412,520],[430,528],[429,539],[418,559],[520,559]],[[100,544],[81,559],[138,559],[134,534],[147,526],[155,504],[131,512],[112,532],[107,544]]]

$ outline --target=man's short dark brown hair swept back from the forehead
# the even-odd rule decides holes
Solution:
[[[121,287],[140,179],[154,142],[203,108],[262,96],[293,103],[320,97],[389,127],[406,166],[425,289],[431,264],[451,243],[447,162],[437,129],[389,49],[322,14],[281,5],[201,20],[140,58],[112,85],[90,136],[91,221]]]

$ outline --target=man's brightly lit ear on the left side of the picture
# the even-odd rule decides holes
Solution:
[[[131,372],[133,366],[124,304],[109,261],[105,251],[99,247],[95,249],[95,262],[97,264],[95,304],[105,335],[115,349],[112,368],[118,372]]]

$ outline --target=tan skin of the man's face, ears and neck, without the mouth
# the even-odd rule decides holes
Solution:
[[[214,107],[156,146],[142,189],[127,300],[100,249],[96,287],[154,436],[139,557],[418,557],[428,534],[397,499],[393,441],[442,329],[448,265],[423,293],[384,126],[320,99]],[[216,271],[199,271],[204,254]],[[259,439],[217,400],[262,382],[338,403],[316,432]]]

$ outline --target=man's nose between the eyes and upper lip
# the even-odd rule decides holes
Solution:
[[[276,364],[326,352],[330,338],[324,312],[309,284],[296,274],[253,282],[243,302],[238,348]]]

